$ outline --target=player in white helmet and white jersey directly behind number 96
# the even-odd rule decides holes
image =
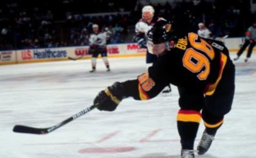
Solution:
[[[165,20],[162,17],[157,17],[154,15],[155,10],[154,7],[151,5],[146,5],[142,8],[142,18],[135,24],[135,32],[136,37],[135,41],[138,42],[140,48],[147,48],[147,41],[146,41],[146,35],[148,31],[154,26],[154,24],[157,21]],[[154,54],[151,54],[147,50],[146,54],[146,63],[153,63],[157,60],[157,56]],[[171,92],[171,86],[168,85],[164,90],[163,93],[169,93]]]

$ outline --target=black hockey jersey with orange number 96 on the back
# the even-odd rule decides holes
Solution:
[[[127,96],[150,99],[168,84],[212,95],[223,70],[233,64],[228,49],[220,41],[200,38],[194,32],[178,36],[175,47],[141,74],[123,82]]]

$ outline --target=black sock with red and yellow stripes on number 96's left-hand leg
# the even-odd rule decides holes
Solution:
[[[177,126],[182,149],[194,149],[196,133],[201,121],[201,113],[193,110],[180,110]]]

